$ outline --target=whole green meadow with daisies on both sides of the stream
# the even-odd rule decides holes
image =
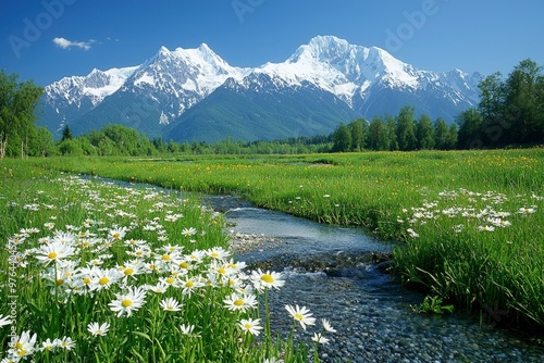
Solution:
[[[304,361],[309,353],[294,347],[293,341],[273,339],[270,334],[264,298],[269,290],[273,293],[274,286],[265,281],[281,281],[281,275],[245,274],[242,267],[228,267],[234,270],[228,270],[232,273],[228,281],[234,281],[228,284],[218,273],[221,266],[226,268],[225,265],[237,263],[225,255],[227,241],[221,234],[220,215],[202,210],[193,199],[161,201],[164,204],[158,204],[159,208],[156,191],[112,191],[108,189],[111,186],[95,186],[73,177],[79,173],[149,183],[176,191],[237,193],[257,205],[320,223],[361,226],[384,240],[399,242],[393,261],[395,274],[403,283],[423,288],[457,306],[475,309],[490,322],[544,327],[542,148],[244,158],[193,155],[168,160],[47,158],[4,160],[0,167],[0,236],[22,253],[14,267],[17,301],[23,306],[17,326],[38,333],[39,341],[72,337],[78,352],[92,362],[108,362],[106,356],[110,353],[127,354],[124,356],[133,356],[134,361],[139,361],[138,354],[143,354],[141,361],[152,356],[157,362],[165,361],[169,354],[195,362],[220,361],[227,353],[236,362],[273,361],[283,354],[286,361],[296,362]],[[94,188],[106,191],[91,191]],[[148,226],[157,229],[148,230]],[[123,237],[113,237],[120,230]],[[88,236],[81,235],[87,233]],[[67,253],[65,259],[55,261],[55,256],[49,261],[48,255],[54,251],[47,248],[63,236],[75,245],[67,252],[57,251],[62,255]],[[84,247],[87,239],[92,240],[90,248]],[[131,254],[136,253],[131,240],[145,241],[144,261],[161,267],[150,272],[139,265],[139,256]],[[177,276],[160,259],[169,248],[182,249],[176,252]],[[11,280],[7,280],[12,271],[8,268],[11,268],[10,251],[3,250],[1,260],[2,271],[8,271],[2,276],[4,296],[10,296]],[[198,264],[191,262],[191,253],[201,254]],[[221,259],[214,258],[214,253]],[[115,284],[110,289],[100,288],[97,283],[100,278],[92,270],[94,260],[100,262],[97,270],[113,274],[110,277]],[[69,274],[79,280],[88,274],[95,281],[89,284],[95,285],[65,285],[71,276],[59,281],[55,270],[57,274],[60,271],[65,275],[69,267],[64,261],[73,268]],[[189,268],[181,267],[185,263]],[[134,278],[121,276],[119,272],[126,268],[139,273]],[[198,292],[183,292],[187,276],[199,276],[195,283],[203,286],[199,286]],[[168,287],[165,293],[143,288],[157,287],[169,277],[175,278],[177,286]],[[231,284],[242,287],[236,289]],[[237,296],[231,298],[232,293]],[[128,318],[131,308],[124,306],[123,301],[138,302],[141,295],[145,308],[134,309]],[[206,297],[210,302],[194,302],[195,296]],[[245,299],[252,301],[249,296],[256,297],[261,309],[251,302],[243,303]],[[183,305],[181,311],[161,309],[166,298],[177,299]],[[228,305],[225,300],[231,305],[251,308],[233,308],[233,313],[225,308]],[[62,304],[66,308],[59,313]],[[0,315],[9,317],[8,306],[0,309]],[[195,320],[199,314],[206,316],[205,322]],[[295,323],[311,318],[300,312],[292,316]],[[95,322],[108,322],[110,330],[118,333],[95,337],[86,329]],[[194,325],[195,330],[185,334],[187,326],[182,329],[182,324]],[[252,324],[257,328],[251,329]],[[52,331],[48,330],[50,326]],[[325,330],[316,327],[313,338],[323,341],[325,336],[317,335]],[[1,331],[0,342],[5,347],[9,337]],[[254,334],[258,331],[262,334]],[[27,343],[18,342],[21,347]],[[55,354],[72,361],[70,350],[60,350]],[[36,350],[38,353],[58,361],[47,350]]]

